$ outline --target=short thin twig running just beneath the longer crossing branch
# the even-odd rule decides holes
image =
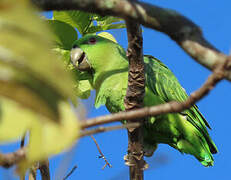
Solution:
[[[137,128],[140,126],[140,123],[128,123],[123,125],[116,125],[116,126],[110,126],[110,127],[98,127],[90,130],[84,130],[80,133],[79,137],[89,136],[92,134],[112,131],[112,130],[118,130],[118,129],[127,129],[127,128]]]

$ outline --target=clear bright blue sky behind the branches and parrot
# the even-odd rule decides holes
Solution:
[[[231,48],[230,1],[146,0],[146,2],[177,10],[190,18],[201,27],[204,36],[213,45],[222,52],[229,54]],[[46,13],[46,16],[49,15],[49,13]],[[124,30],[114,30],[112,33],[118,42],[126,48],[126,32]],[[175,73],[188,93],[199,88],[210,74],[208,70],[193,61],[166,35],[147,28],[144,28],[143,35],[144,54],[150,54],[162,60]],[[145,179],[231,179],[231,141],[229,139],[231,120],[228,116],[231,101],[230,87],[229,82],[222,81],[207,97],[198,103],[200,111],[212,127],[210,135],[219,149],[219,153],[214,155],[214,167],[205,168],[194,157],[181,155],[168,145],[159,145],[154,156],[146,158],[150,168],[145,171]],[[89,101],[85,102],[88,117],[107,114],[108,111],[105,107],[94,109],[93,98],[91,97]],[[77,165],[77,170],[68,180],[128,179],[128,167],[124,165],[123,161],[127,149],[126,131],[98,134],[95,135],[95,138],[113,168],[101,170],[104,161],[98,159],[99,153],[91,138],[85,137],[79,140],[70,153],[55,156],[51,159],[52,177],[55,178],[54,174],[59,173],[61,173],[59,174],[60,177],[63,177],[63,173],[67,173],[66,169],[70,170],[74,165]],[[15,148],[15,145],[12,145],[12,148]],[[9,146],[5,149],[1,146],[1,151],[7,149],[9,149]],[[12,169],[3,170],[1,168],[0,180],[2,179],[15,179],[12,176]]]

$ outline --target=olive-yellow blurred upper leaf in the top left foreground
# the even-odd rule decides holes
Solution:
[[[50,51],[52,33],[47,28],[47,23],[37,17],[35,12],[28,0],[0,2],[0,66],[8,66],[11,71],[17,71],[10,81],[16,85],[26,85],[29,91],[42,97],[53,111],[53,117],[49,118],[58,121],[57,106],[53,102],[73,99],[73,88],[70,88],[73,81],[58,60],[60,57]],[[22,72],[25,76],[18,78]],[[7,73],[3,72],[1,75],[1,79],[9,79]],[[21,96],[20,102],[28,107],[28,104],[23,103],[27,94]],[[9,95],[7,97],[14,98]],[[34,102],[30,101],[31,104]],[[33,106],[31,104],[29,107]],[[37,109],[41,110],[39,106]]]

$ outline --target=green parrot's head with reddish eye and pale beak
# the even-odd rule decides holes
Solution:
[[[71,62],[79,71],[105,72],[116,67],[124,49],[109,33],[86,35],[73,43]],[[123,64],[123,63],[122,63]]]

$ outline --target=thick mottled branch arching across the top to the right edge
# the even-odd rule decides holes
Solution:
[[[192,58],[210,70],[223,63],[227,56],[220,53],[204,37],[191,20],[170,9],[129,0],[32,0],[43,10],[84,10],[112,15],[167,34]],[[230,63],[231,64],[231,63]],[[231,65],[229,65],[231,66]],[[231,81],[231,70],[225,76]]]

